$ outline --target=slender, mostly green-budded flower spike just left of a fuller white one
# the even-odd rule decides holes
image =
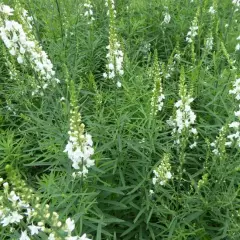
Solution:
[[[150,69],[150,74],[151,78],[154,80],[154,89],[151,99],[151,115],[154,116],[157,114],[158,111],[162,110],[163,100],[165,99],[162,89],[162,80],[158,62],[158,54],[156,50],[154,53],[154,62],[152,68]]]

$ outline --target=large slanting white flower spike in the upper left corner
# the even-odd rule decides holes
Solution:
[[[19,22],[11,20],[14,13]],[[38,77],[38,81],[31,83],[33,95],[42,94],[50,83],[59,83],[52,62],[32,33],[32,17],[19,4],[17,10],[0,5],[0,38],[18,64],[30,66]]]

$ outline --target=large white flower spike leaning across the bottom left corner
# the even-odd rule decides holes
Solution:
[[[20,240],[90,240],[86,234],[72,236],[75,222],[67,218],[65,223],[59,214],[41,202],[33,189],[10,166],[6,167],[8,179],[0,178],[0,225],[8,229],[11,239]]]

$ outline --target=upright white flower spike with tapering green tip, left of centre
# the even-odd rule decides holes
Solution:
[[[75,98],[75,91],[72,91],[69,140],[64,152],[72,161],[72,167],[76,170],[73,177],[85,177],[88,169],[94,165],[91,159],[94,154],[92,136],[85,133],[85,125],[81,121],[81,114]]]

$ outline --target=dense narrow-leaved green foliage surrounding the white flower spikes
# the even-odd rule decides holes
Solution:
[[[1,176],[6,175],[6,164],[12,165],[62,219],[74,218],[76,232],[94,240],[240,239],[240,154],[236,147],[225,148],[227,128],[219,133],[233,121],[239,105],[229,95],[240,63],[235,51],[240,13],[231,1],[116,1],[114,30],[124,52],[118,89],[102,76],[109,32],[105,1],[92,1],[91,25],[84,17],[84,0],[4,2],[12,7],[19,2],[33,16],[33,32],[61,83],[43,96],[32,96],[29,69],[20,68],[0,42]],[[187,43],[194,18],[198,34]],[[207,51],[209,36],[213,49]],[[163,109],[154,118],[149,114],[152,56],[165,95]],[[16,79],[10,78],[7,61],[17,70]],[[95,148],[95,166],[84,179],[72,178],[71,162],[63,152],[71,81]],[[187,143],[178,148],[166,123],[179,95],[194,98],[199,134],[194,149]],[[210,146],[215,140],[220,156]],[[173,177],[154,188],[153,170],[165,154]],[[9,239],[5,235],[0,227],[1,239]]]

